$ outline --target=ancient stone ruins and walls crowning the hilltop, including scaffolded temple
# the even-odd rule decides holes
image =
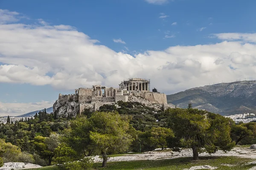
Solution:
[[[115,105],[118,101],[127,102],[132,95],[140,96],[152,103],[167,104],[166,94],[150,92],[149,79],[129,78],[121,82],[119,88],[93,85],[92,88],[75,89],[75,94],[59,94],[53,106],[53,112],[60,109],[61,111],[76,109],[81,113],[84,108],[96,111],[105,104]],[[66,106],[61,108],[61,105]]]

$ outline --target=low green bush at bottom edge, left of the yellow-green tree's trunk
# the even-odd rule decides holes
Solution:
[[[87,170],[92,167],[92,162],[90,158],[84,158],[80,161],[66,162],[61,165],[65,170]]]

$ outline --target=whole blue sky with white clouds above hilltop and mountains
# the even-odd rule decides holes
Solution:
[[[174,94],[256,79],[255,0],[0,0],[0,116],[129,77]]]

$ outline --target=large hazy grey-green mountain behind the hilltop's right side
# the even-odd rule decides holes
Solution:
[[[167,102],[178,108],[205,109],[221,115],[256,113],[256,81],[206,85],[167,95]]]

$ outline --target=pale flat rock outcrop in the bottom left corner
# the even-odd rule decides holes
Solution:
[[[32,169],[40,168],[40,165],[23,163],[23,162],[7,162],[3,164],[3,167],[0,167],[0,170],[23,170],[23,169]]]

